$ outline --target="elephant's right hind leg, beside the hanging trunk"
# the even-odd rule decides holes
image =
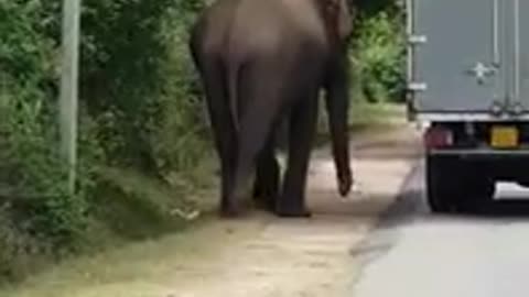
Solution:
[[[290,116],[289,161],[276,211],[281,217],[310,217],[305,206],[305,187],[317,119],[317,92],[300,101]]]

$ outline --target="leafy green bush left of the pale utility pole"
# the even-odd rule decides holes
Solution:
[[[2,1],[3,205],[35,237],[62,242],[78,231],[83,198],[68,197],[57,154],[54,41],[46,36],[40,1]]]

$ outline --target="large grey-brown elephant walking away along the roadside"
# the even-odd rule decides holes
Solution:
[[[350,191],[352,23],[347,0],[217,0],[198,15],[188,47],[220,161],[222,216],[241,213],[253,174],[257,202],[279,217],[312,216],[305,188],[322,90],[338,193]],[[283,121],[289,143],[280,183],[276,135]]]

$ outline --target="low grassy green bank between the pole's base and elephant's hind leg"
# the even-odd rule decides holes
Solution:
[[[126,168],[101,172],[104,190],[96,195],[94,224],[87,237],[95,249],[101,242],[127,243],[179,232],[212,210],[213,162],[201,162],[185,176],[159,180]]]

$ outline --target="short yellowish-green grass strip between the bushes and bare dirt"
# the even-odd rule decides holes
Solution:
[[[223,244],[210,244],[216,238],[242,240],[256,232],[259,222],[207,223],[202,220],[186,231],[158,240],[129,244],[57,265],[19,286],[0,289],[2,297],[149,297],[177,296],[174,274],[190,263],[214,258]],[[234,222],[236,223],[236,222]],[[190,237],[193,233],[193,237]],[[218,242],[218,241],[217,241]]]

